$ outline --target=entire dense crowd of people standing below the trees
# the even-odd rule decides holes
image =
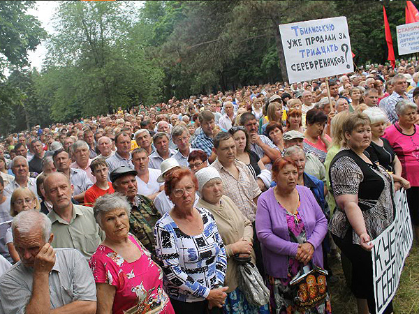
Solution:
[[[332,313],[332,260],[375,313],[371,241],[401,188],[419,237],[418,79],[402,60],[9,135],[0,313]],[[307,269],[327,276],[296,291]]]

